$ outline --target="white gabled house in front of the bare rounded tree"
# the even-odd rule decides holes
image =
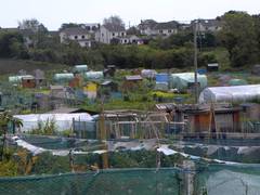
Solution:
[[[100,30],[95,34],[95,40],[106,44],[113,42],[119,43],[120,38],[127,36],[127,31],[123,26],[120,25],[102,25]]]

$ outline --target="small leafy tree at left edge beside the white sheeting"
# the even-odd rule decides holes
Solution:
[[[0,160],[3,160],[3,156],[4,156],[4,147],[5,147],[5,140],[6,140],[6,133],[8,133],[8,126],[12,123],[17,128],[23,127],[23,122],[21,119],[13,117],[13,115],[11,115],[9,112],[3,112],[0,115],[0,128],[1,128],[1,134],[2,134],[2,148],[1,148],[1,156],[0,156]]]

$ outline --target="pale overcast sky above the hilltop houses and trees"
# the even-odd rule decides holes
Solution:
[[[235,10],[260,13],[259,0],[0,0],[0,27],[17,27],[18,21],[37,18],[49,30],[63,23],[101,23],[119,15],[126,27],[141,20],[157,22],[214,18]]]

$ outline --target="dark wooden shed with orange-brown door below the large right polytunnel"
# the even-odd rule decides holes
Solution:
[[[200,136],[204,133],[240,132],[240,107],[229,105],[181,105],[173,109],[176,122],[185,121],[182,133],[185,135]]]

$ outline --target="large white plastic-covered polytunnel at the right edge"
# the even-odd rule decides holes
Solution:
[[[214,87],[205,89],[199,95],[199,103],[248,102],[260,98],[260,84]]]

